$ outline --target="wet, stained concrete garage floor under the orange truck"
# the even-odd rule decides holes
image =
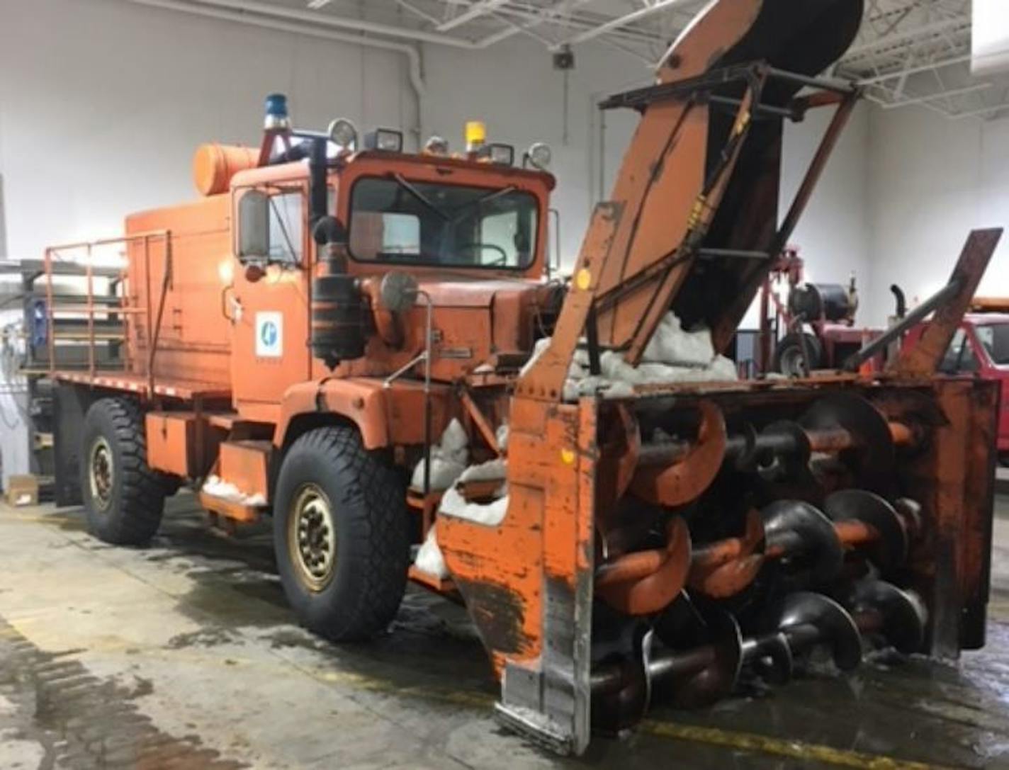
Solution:
[[[78,511],[0,505],[0,768],[1009,768],[1009,499],[989,646],[959,667],[877,656],[561,761],[502,733],[456,608],[412,591],[393,633],[334,647],[299,629],[268,535],[230,540],[170,501],[144,550]],[[915,764],[917,763],[917,764]]]

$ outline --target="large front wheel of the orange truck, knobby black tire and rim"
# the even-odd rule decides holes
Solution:
[[[402,480],[352,428],[317,428],[291,446],[276,483],[273,544],[288,601],[334,642],[383,631],[407,586]]]

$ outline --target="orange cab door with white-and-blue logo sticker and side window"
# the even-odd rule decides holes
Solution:
[[[234,199],[237,262],[226,300],[234,401],[250,419],[273,419],[285,391],[311,371],[308,190],[278,183]]]

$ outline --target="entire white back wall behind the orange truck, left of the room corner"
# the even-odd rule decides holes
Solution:
[[[594,105],[651,77],[640,60],[604,43],[579,46],[565,99],[564,74],[523,35],[480,51],[425,44],[418,114],[398,51],[126,0],[0,0],[0,175],[15,259],[39,258],[46,244],[117,234],[128,212],[193,197],[196,146],[257,144],[263,98],[279,91],[303,127],[324,128],[337,116],[362,130],[420,125],[425,137],[441,133],[459,148],[463,123],[478,118],[491,140],[520,151],[548,142],[570,264],[600,174],[608,191],[637,122],[629,111],[607,113],[600,160]],[[787,128],[786,200],[828,118],[818,112]],[[844,281],[868,269],[868,127],[861,109],[795,233],[812,278]],[[4,444],[22,440],[3,432]],[[4,475],[25,472],[20,464],[5,463]]]

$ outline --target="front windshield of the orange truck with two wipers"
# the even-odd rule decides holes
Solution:
[[[536,196],[511,187],[365,178],[350,195],[350,254],[401,264],[528,267],[537,215]]]

